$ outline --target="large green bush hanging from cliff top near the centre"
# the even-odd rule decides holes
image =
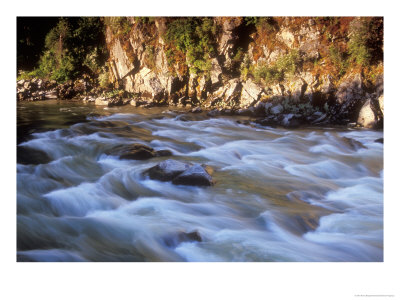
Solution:
[[[185,54],[191,73],[211,69],[210,58],[215,55],[217,28],[211,18],[177,18],[168,24],[164,39]],[[167,53],[168,62],[175,61],[176,53]]]

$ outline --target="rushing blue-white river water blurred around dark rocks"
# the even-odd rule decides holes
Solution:
[[[167,108],[21,103],[19,261],[383,261],[383,136],[252,127]],[[116,145],[214,169],[212,187],[143,172]]]

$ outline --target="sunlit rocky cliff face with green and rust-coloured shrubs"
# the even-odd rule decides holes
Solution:
[[[382,18],[128,17],[106,24],[114,85],[155,103],[279,103],[287,113],[319,111],[338,123],[382,123]],[[362,108],[372,121],[360,118]]]

